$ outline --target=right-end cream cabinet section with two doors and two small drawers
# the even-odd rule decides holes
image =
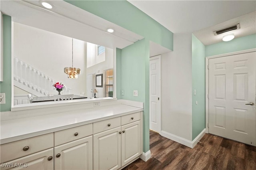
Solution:
[[[138,112],[94,123],[94,132],[98,132],[93,135],[94,170],[118,169],[142,154],[141,117]]]

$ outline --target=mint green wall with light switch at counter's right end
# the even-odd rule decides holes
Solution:
[[[145,50],[147,49],[147,50]],[[143,151],[149,150],[149,42],[142,39],[121,50],[121,99],[144,103]],[[138,97],[133,91],[138,90]]]

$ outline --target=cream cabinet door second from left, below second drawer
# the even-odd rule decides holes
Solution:
[[[54,170],[92,170],[92,136],[56,146],[54,154]]]

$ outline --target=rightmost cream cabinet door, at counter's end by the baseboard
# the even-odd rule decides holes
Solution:
[[[129,123],[122,126],[122,164],[124,166],[136,157],[140,156],[141,141],[140,141],[140,121]]]

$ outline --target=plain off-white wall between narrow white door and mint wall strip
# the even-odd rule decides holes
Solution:
[[[162,131],[192,140],[192,36],[174,34],[174,50],[161,55]]]

